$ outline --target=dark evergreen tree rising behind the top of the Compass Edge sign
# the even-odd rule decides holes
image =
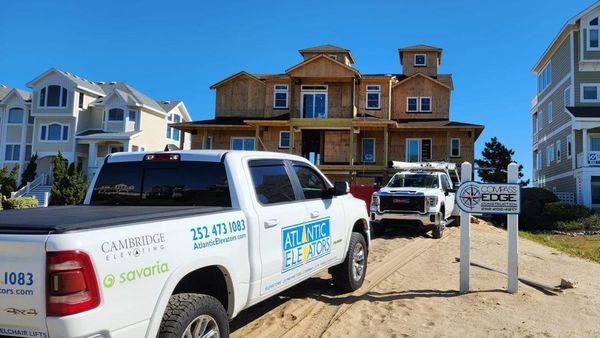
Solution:
[[[485,143],[485,148],[481,152],[483,158],[475,160],[475,164],[479,167],[477,174],[483,182],[506,183],[506,169],[510,163],[515,162],[512,159],[514,154],[514,150],[506,148],[498,138],[492,137]],[[523,166],[519,165],[519,179],[523,177],[522,170]],[[521,180],[520,184],[526,186],[529,180]]]

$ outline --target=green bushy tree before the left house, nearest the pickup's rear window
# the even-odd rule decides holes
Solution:
[[[52,205],[75,205],[83,201],[87,182],[83,178],[81,163],[71,163],[59,152],[54,159],[54,183],[52,184]]]

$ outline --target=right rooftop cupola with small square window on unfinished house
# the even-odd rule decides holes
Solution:
[[[442,62],[442,49],[427,45],[415,45],[399,48],[400,64],[402,73],[412,76],[422,73],[429,76],[437,76],[438,68]]]

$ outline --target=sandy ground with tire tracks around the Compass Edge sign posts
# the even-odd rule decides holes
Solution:
[[[506,268],[506,232],[472,224],[472,259]],[[458,293],[459,229],[441,240],[388,231],[374,239],[365,284],[339,294],[327,274],[241,313],[233,337],[600,337],[600,264],[520,239],[522,276],[575,289],[548,294],[506,277],[471,268],[471,292]]]

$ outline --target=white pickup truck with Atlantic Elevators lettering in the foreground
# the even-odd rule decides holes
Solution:
[[[84,205],[0,212],[0,336],[227,337],[324,269],[355,290],[370,237],[348,191],[293,155],[111,155]]]

